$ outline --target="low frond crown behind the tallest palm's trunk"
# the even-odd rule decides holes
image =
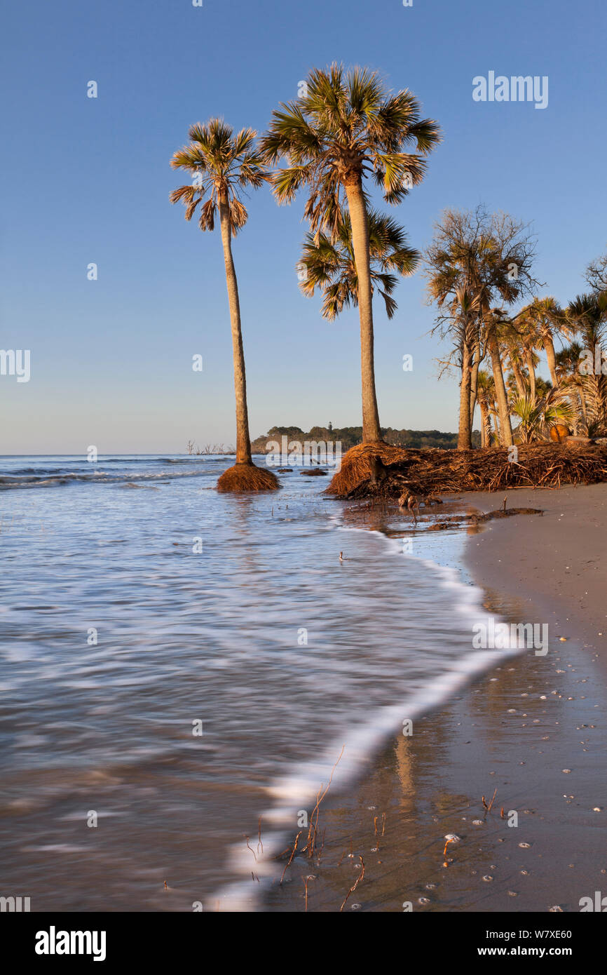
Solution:
[[[406,246],[406,234],[390,216],[371,210],[368,214],[370,274],[386,304],[388,318],[393,318],[398,305],[392,294],[397,287],[397,271],[402,276],[413,274],[421,254]],[[352,242],[350,215],[343,214],[335,241],[327,234],[307,233],[300,266],[304,279],[302,292],[312,297],[322,291],[322,317],[332,321],[344,307],[359,304],[359,279]]]

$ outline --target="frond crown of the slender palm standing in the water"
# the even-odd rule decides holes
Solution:
[[[171,203],[183,203],[186,220],[200,208],[201,230],[213,230],[218,206],[226,203],[232,234],[245,226],[247,208],[241,191],[248,186],[257,189],[270,178],[255,146],[256,135],[252,129],[242,129],[234,136],[232,127],[217,118],[191,126],[189,144],[171,159],[172,169],[194,176],[191,184],[172,190],[169,197]]]

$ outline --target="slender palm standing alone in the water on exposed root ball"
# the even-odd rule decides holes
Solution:
[[[218,490],[276,490],[276,476],[269,470],[255,467],[250,452],[247,412],[247,377],[245,352],[241,331],[241,306],[232,237],[247,222],[247,209],[240,193],[247,187],[257,189],[269,175],[255,148],[256,133],[243,129],[236,136],[222,119],[210,119],[206,125],[197,122],[189,131],[190,142],[178,149],[171,159],[171,167],[185,170],[194,176],[192,183],[171,192],[171,203],[179,200],[185,206],[185,218],[191,220],[199,209],[201,230],[213,230],[219,214],[225,275],[232,326],[234,354],[234,388],[236,392],[236,464],[225,471],[217,482]]]

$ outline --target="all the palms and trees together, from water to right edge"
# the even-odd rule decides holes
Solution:
[[[392,318],[398,277],[413,274],[422,264],[438,309],[436,330],[452,345],[443,368],[461,371],[458,447],[472,445],[476,406],[482,446],[496,440],[512,444],[512,416],[519,420],[518,439],[544,436],[556,420],[571,420],[576,428],[584,424],[586,430],[604,425],[604,383],[595,377],[578,383],[574,391],[577,380],[567,363],[575,347],[568,347],[565,362],[567,357],[559,360],[553,346],[553,336],[565,336],[567,330],[584,340],[602,336],[602,292],[593,289],[564,311],[553,299],[535,297],[534,240],[509,215],[489,215],[483,208],[472,214],[448,211],[428,252],[421,254],[409,246],[394,217],[371,205],[369,186],[384,203],[402,203],[423,180],[427,157],[440,141],[438,124],[422,118],[410,91],[391,93],[377,72],[346,70],[334,63],[309,73],[297,98],[281,102],[272,113],[261,137],[252,129],[235,134],[220,118],[196,123],[188,136],[189,142],[173,154],[171,167],[187,173],[191,182],[174,189],[170,199],[184,205],[186,220],[197,214],[201,230],[212,231],[218,223],[232,330],[236,464],[219,478],[219,490],[279,487],[271,471],[252,463],[232,252],[233,238],[247,223],[243,194],[264,184],[280,205],[292,203],[300,191],[306,196],[309,231],[299,263],[302,292],[322,292],[322,315],[329,320],[351,305],[359,309],[364,444],[381,442],[386,435],[375,388],[373,295],[381,296]],[[605,268],[597,262],[594,270],[600,278]],[[509,312],[527,297],[516,315]],[[538,348],[546,350],[551,372],[553,368],[550,389],[535,374]],[[485,362],[490,372],[481,369]]]

